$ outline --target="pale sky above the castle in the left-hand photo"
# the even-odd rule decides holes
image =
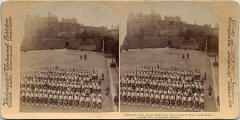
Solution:
[[[111,28],[112,25],[118,25],[118,18],[114,12],[103,6],[87,3],[63,2],[54,4],[45,4],[29,12],[29,15],[47,16],[48,12],[61,18],[75,17],[79,23],[87,26],[105,26]]]

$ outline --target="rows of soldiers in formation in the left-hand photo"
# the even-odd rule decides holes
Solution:
[[[39,67],[23,75],[21,103],[101,111],[104,75],[100,76],[94,69],[83,71],[62,66]]]

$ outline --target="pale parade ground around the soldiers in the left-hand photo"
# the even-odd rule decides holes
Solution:
[[[84,59],[84,55],[87,55],[87,59]],[[80,59],[82,56],[82,59]],[[106,58],[103,53],[80,51],[80,50],[34,50],[21,52],[21,76],[30,70],[38,66],[68,66],[80,70],[97,70],[99,76],[104,74],[104,81],[102,83],[102,112],[114,112],[118,111],[118,106],[113,102],[114,95],[116,95],[115,81],[118,81],[115,70],[111,70],[109,66],[109,59]],[[110,89],[110,93],[106,96],[107,86]],[[62,107],[44,107],[25,105],[20,103],[20,112],[92,112],[81,111],[80,109],[62,108]]]

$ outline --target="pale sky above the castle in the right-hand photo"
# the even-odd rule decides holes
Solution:
[[[149,14],[151,10],[163,16],[180,16],[182,21],[199,25],[211,24],[214,26],[218,23],[218,17],[214,11],[207,7],[194,2],[159,2],[140,4],[131,7],[126,14],[121,17],[120,23],[120,45],[126,36],[127,18],[129,12]]]

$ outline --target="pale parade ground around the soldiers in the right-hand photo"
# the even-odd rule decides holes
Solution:
[[[186,54],[189,53],[189,59]],[[185,54],[185,58],[183,58]],[[129,49],[128,51],[121,51],[120,66],[121,75],[128,71],[135,69],[137,66],[157,66],[168,65],[176,66],[178,68],[199,68],[201,74],[206,73],[207,79],[203,86],[206,98],[204,112],[217,112],[219,106],[216,97],[218,96],[218,67],[213,67],[212,58],[206,52],[197,50],[184,50],[175,48],[146,48],[146,49]],[[212,96],[208,96],[207,89],[212,86]],[[121,89],[121,88],[120,88]],[[137,106],[120,104],[121,112],[194,112],[176,108],[163,108],[153,106]]]

